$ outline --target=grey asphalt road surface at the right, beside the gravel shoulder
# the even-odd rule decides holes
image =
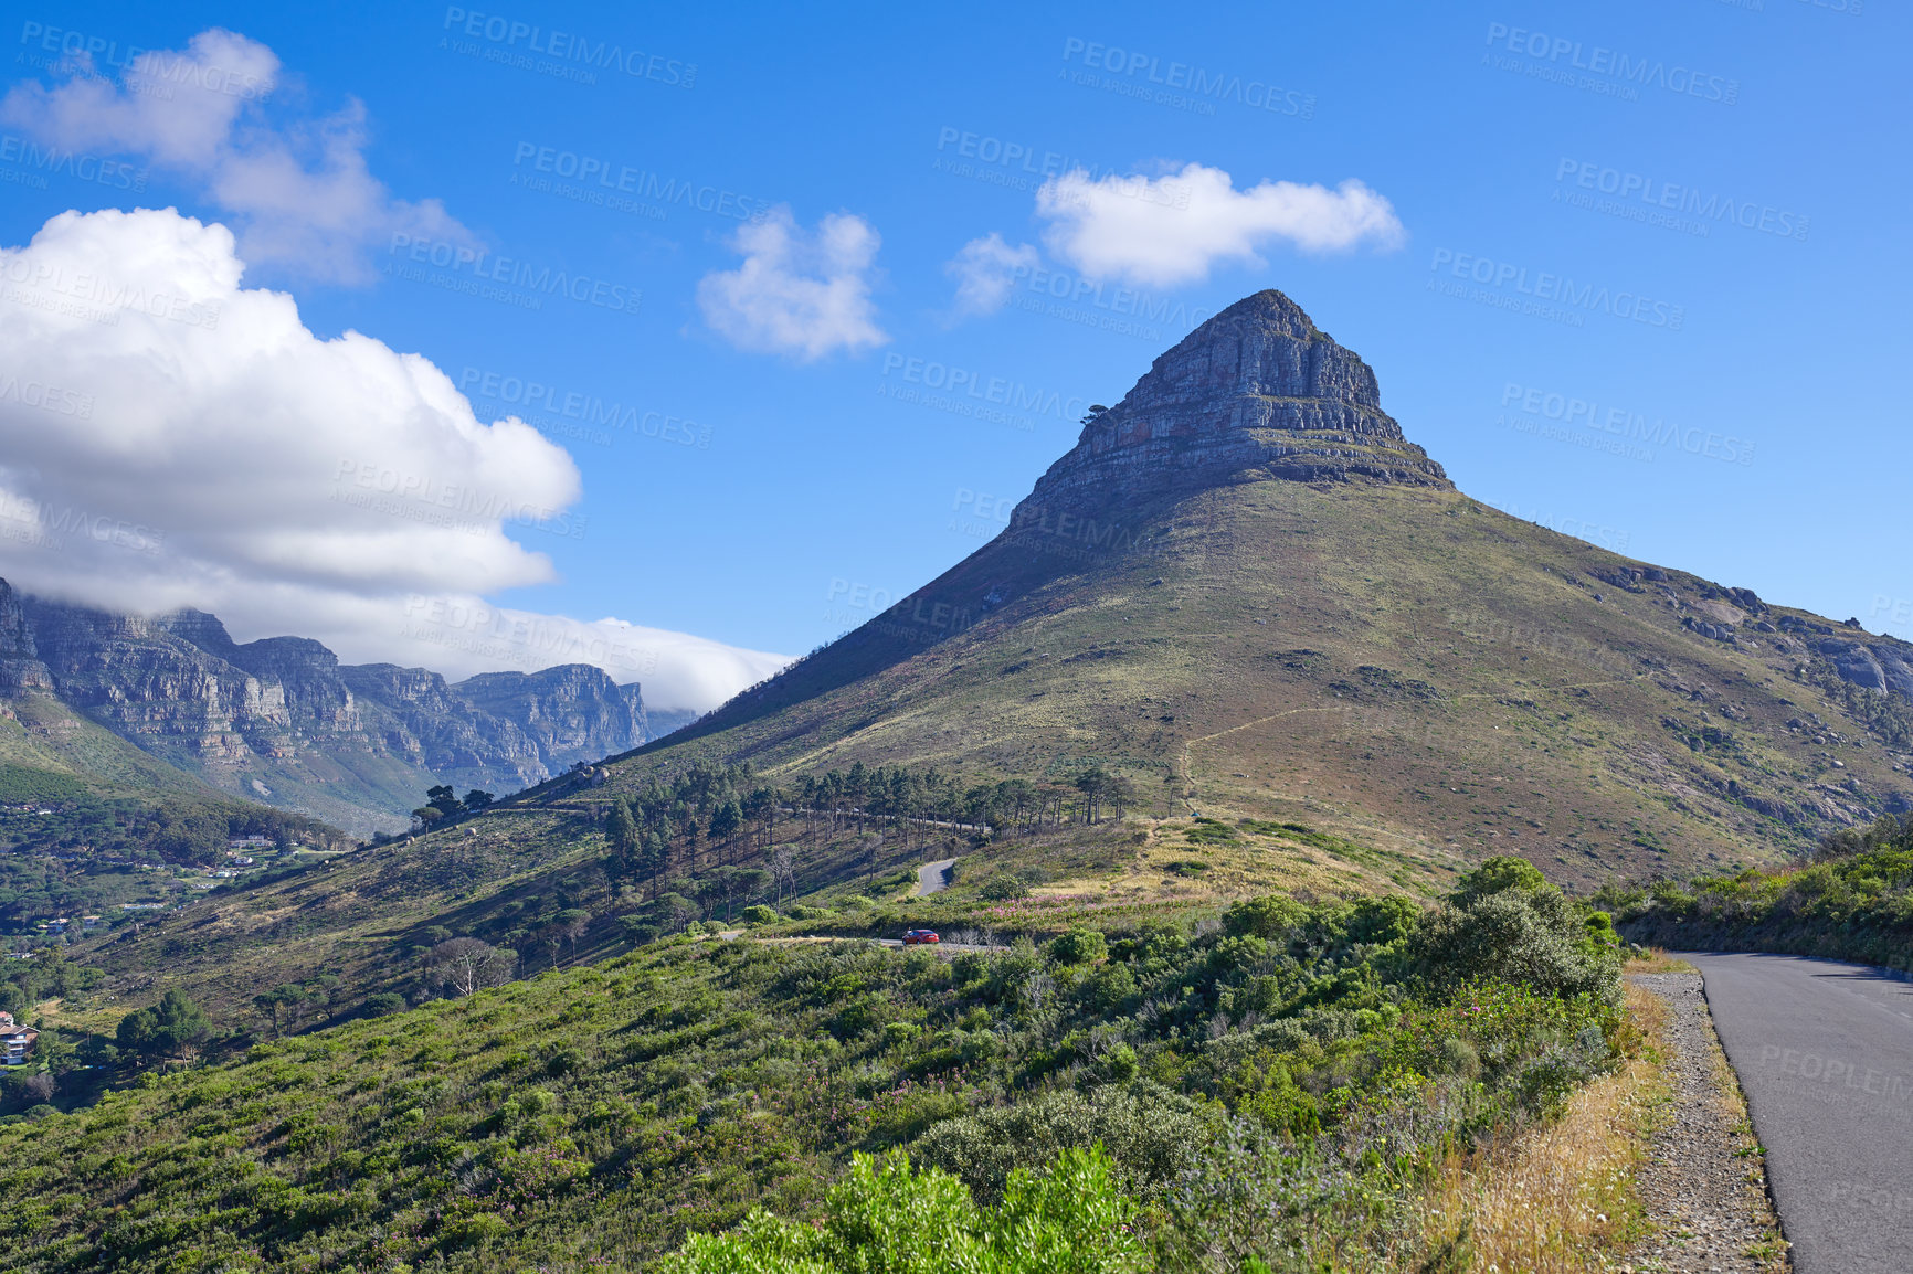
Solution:
[[[1913,983],[1804,956],[1682,958],[1706,979],[1796,1274],[1913,1270]]]

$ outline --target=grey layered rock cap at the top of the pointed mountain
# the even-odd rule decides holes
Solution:
[[[1088,421],[1012,526],[1259,478],[1452,488],[1381,409],[1368,363],[1263,291],[1192,331]]]

